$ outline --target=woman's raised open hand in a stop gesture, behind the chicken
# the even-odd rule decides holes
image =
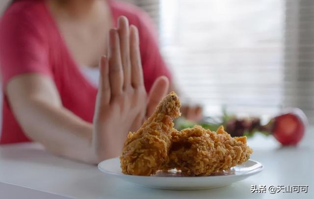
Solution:
[[[98,160],[120,155],[127,133],[154,112],[168,87],[168,79],[161,76],[147,95],[138,30],[119,17],[118,28],[109,32],[108,55],[100,61],[92,141]]]

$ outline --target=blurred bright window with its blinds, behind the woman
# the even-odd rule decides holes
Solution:
[[[299,107],[314,124],[313,0],[126,1],[151,16],[184,100],[205,115]]]

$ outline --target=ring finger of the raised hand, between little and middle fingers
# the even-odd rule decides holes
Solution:
[[[115,29],[110,29],[109,32],[109,80],[111,95],[120,95],[123,86],[123,70],[121,64],[119,35]]]

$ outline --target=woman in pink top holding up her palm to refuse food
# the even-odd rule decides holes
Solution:
[[[12,3],[0,22],[0,143],[34,140],[87,163],[118,156],[126,133],[168,92],[170,73],[153,35],[146,15],[120,2]],[[86,73],[100,57],[93,85]]]

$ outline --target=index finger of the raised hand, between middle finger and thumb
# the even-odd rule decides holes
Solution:
[[[131,83],[134,88],[144,85],[138,30],[130,26]]]

